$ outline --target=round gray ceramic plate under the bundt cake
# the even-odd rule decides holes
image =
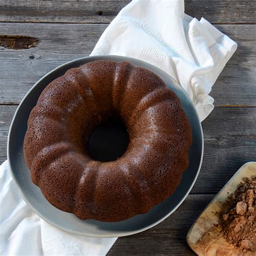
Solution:
[[[190,148],[190,165],[183,174],[177,190],[165,201],[152,208],[146,214],[139,214],[131,219],[118,223],[105,223],[96,220],[80,220],[71,213],[66,213],[52,206],[44,198],[41,190],[32,183],[30,171],[26,166],[23,154],[23,140],[27,129],[27,121],[32,108],[46,85],[53,79],[62,76],[68,69],[83,65],[92,60],[109,59],[115,62],[127,61],[136,66],[149,69],[160,76],[177,94],[187,114],[193,131],[193,144]],[[72,60],[52,70],[41,78],[24,97],[12,120],[8,138],[8,159],[12,178],[21,191],[23,199],[42,219],[62,230],[86,235],[89,237],[123,237],[145,231],[171,215],[185,200],[191,191],[201,167],[203,159],[203,131],[194,109],[193,103],[186,92],[169,75],[160,69],[138,59],[120,56],[93,56]]]

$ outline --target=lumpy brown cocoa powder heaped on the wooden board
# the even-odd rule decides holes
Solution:
[[[228,198],[219,227],[226,240],[243,254],[256,255],[256,176],[245,179]]]

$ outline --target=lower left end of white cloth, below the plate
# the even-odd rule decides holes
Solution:
[[[74,235],[33,213],[11,179],[7,160],[0,167],[0,255],[105,255],[117,238]]]

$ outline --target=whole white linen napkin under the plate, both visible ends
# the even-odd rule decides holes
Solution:
[[[204,18],[184,14],[184,1],[132,1],[100,37],[91,55],[142,59],[169,73],[204,120],[211,87],[237,44]],[[117,238],[87,238],[58,230],[33,213],[0,168],[0,255],[105,255]]]

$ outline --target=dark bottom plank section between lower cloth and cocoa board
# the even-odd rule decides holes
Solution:
[[[213,195],[189,195],[170,217],[143,233],[118,238],[107,255],[196,255],[186,234]]]

